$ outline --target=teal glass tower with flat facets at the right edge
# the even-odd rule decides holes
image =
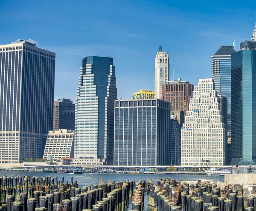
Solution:
[[[256,42],[240,43],[231,55],[232,161],[256,165]]]

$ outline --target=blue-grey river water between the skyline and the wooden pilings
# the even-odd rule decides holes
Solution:
[[[126,180],[134,180],[137,182],[138,180],[145,179],[146,181],[148,179],[152,179],[154,183],[156,183],[157,179],[161,179],[164,177],[170,177],[175,178],[177,180],[196,180],[196,179],[211,179],[215,181],[224,182],[224,176],[218,176],[218,175],[180,175],[180,174],[112,174],[112,173],[96,173],[96,174],[69,174],[69,173],[36,173],[36,172],[23,172],[23,171],[0,171],[0,177],[3,176],[58,176],[58,180],[62,179],[62,176],[65,177],[65,182],[70,182],[70,177],[73,176],[73,182],[77,181],[79,184],[79,187],[82,188],[85,185],[96,185],[99,183],[99,181],[103,180],[105,183],[108,183],[109,180],[113,180],[115,182],[119,181],[126,181]],[[126,210],[131,210],[131,200],[128,202],[128,208]],[[145,195],[145,206],[144,211],[152,211],[151,207],[148,207],[148,198],[147,195]]]

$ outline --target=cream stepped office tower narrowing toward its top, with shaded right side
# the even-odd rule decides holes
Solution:
[[[217,93],[212,78],[194,87],[181,129],[181,165],[224,165],[227,145],[227,97]]]

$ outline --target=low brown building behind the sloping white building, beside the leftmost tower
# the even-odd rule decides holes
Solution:
[[[70,99],[58,99],[53,108],[53,130],[75,130],[75,104]]]

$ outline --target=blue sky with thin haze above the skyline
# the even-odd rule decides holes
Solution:
[[[56,53],[55,99],[76,98],[82,59],[112,57],[118,98],[154,91],[160,45],[170,79],[211,77],[211,55],[250,40],[255,4],[223,0],[0,0],[0,44],[33,39]]]

